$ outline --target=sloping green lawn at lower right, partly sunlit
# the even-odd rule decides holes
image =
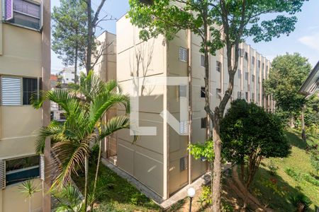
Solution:
[[[275,211],[293,211],[289,196],[301,192],[313,201],[310,210],[315,211],[315,206],[319,206],[319,187],[307,182],[304,177],[293,179],[285,172],[287,168],[290,168],[301,176],[315,174],[315,170],[310,165],[310,154],[305,150],[306,143],[301,140],[299,131],[287,131],[286,135],[291,143],[291,155],[288,158],[263,160],[254,177],[251,192]],[[307,143],[308,145],[318,144],[319,136],[308,136]],[[271,160],[278,167],[276,175],[271,175],[269,172]]]

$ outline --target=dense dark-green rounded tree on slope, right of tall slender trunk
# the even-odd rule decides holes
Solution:
[[[223,157],[239,164],[247,189],[263,158],[289,155],[289,142],[281,120],[262,107],[235,100],[220,123]]]

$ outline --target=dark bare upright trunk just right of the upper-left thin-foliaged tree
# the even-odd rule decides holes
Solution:
[[[86,13],[87,13],[87,49],[86,49],[86,74],[89,74],[91,70],[91,57],[92,57],[92,36],[93,36],[93,24],[92,24],[92,8],[91,0],[86,0]]]

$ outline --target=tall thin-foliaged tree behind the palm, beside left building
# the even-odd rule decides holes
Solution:
[[[84,64],[86,52],[87,16],[82,0],[61,0],[52,12],[52,50],[65,66],[74,66],[74,83],[77,67]]]

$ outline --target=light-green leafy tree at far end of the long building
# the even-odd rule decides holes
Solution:
[[[298,93],[306,80],[311,66],[306,57],[298,53],[277,56],[272,61],[272,69],[269,79],[265,81],[266,93],[272,94],[279,112],[282,111],[289,117],[291,127],[293,119],[301,114],[302,137],[306,140],[304,112],[306,110],[306,98]]]

